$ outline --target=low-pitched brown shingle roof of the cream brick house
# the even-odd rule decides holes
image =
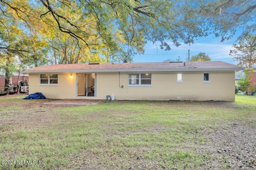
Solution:
[[[104,64],[54,64],[27,69],[25,72],[116,72],[116,71],[191,71],[191,70],[243,70],[243,67],[222,61],[184,63],[104,63]]]

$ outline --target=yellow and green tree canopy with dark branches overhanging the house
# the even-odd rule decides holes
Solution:
[[[132,61],[150,41],[170,50],[168,41],[190,44],[211,33],[225,41],[241,27],[255,32],[255,8],[245,0],[1,0],[0,32],[6,38],[0,37],[0,51],[26,56],[35,66],[52,59]],[[12,46],[3,44],[11,32],[18,35]]]

